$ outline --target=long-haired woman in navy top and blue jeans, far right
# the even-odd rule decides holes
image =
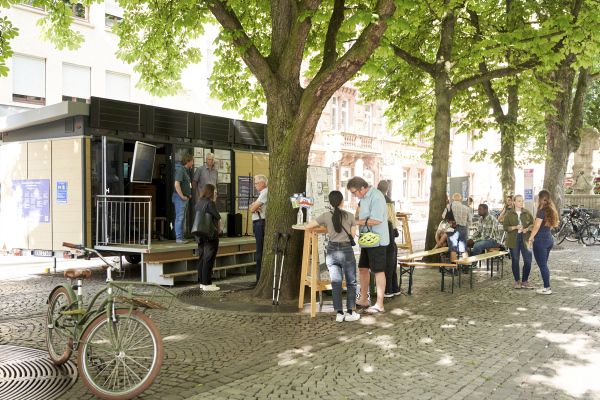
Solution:
[[[550,192],[543,189],[538,193],[538,211],[535,215],[535,226],[529,237],[529,246],[533,244],[533,255],[535,262],[540,267],[544,287],[538,289],[539,294],[552,294],[550,288],[550,270],[548,269],[548,257],[554,246],[554,238],[550,229],[558,225],[558,213],[550,198]]]

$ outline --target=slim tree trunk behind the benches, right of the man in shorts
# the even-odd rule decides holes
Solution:
[[[429,220],[425,249],[435,246],[435,232],[442,220],[446,207],[446,185],[448,182],[448,154],[450,154],[450,105],[454,97],[448,91],[448,76],[436,78],[435,134],[433,137],[433,157],[431,163],[431,196],[429,198]],[[452,196],[452,193],[450,193]]]

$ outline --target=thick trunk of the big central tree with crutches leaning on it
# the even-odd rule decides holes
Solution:
[[[278,96],[279,97],[279,96]],[[297,298],[302,267],[304,232],[293,230],[297,210],[292,208],[290,196],[306,191],[308,154],[322,110],[303,112],[297,101],[280,101],[267,105],[269,138],[269,192],[265,216],[265,242],[263,247],[260,281],[255,289],[258,296],[270,298],[273,291],[275,262],[275,232],[290,234],[285,253],[281,298]],[[303,118],[302,116],[313,115]],[[314,117],[316,115],[316,117]],[[283,248],[283,239],[279,240]],[[278,266],[282,257],[277,258]],[[279,267],[278,267],[279,271]]]

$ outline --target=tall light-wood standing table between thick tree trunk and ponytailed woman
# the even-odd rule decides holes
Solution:
[[[317,280],[319,274],[319,234],[327,233],[327,228],[319,226],[306,229],[302,225],[294,225],[292,229],[304,231],[304,248],[302,251],[302,274],[300,276],[300,299],[298,308],[304,308],[304,291],[310,287],[310,316],[317,316],[317,292],[331,289],[331,281]],[[312,255],[312,263],[310,257]],[[310,280],[308,268],[310,264]],[[342,284],[345,286],[345,282]]]

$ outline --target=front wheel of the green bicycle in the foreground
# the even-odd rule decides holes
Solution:
[[[85,329],[77,367],[83,383],[96,396],[130,399],[148,389],[158,375],[162,338],[156,324],[141,312],[134,310],[129,315],[128,309],[120,309],[115,314],[116,322],[102,314]]]

